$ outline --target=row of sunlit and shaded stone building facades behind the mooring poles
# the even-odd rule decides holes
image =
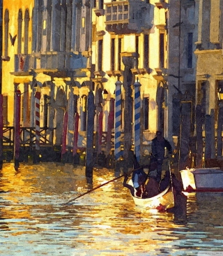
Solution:
[[[77,147],[86,148],[87,105],[93,92],[94,150],[109,155],[117,141],[113,134],[120,85],[118,133],[125,159],[137,143],[135,122],[141,155],[157,130],[172,145],[187,148],[183,154],[188,155],[190,139],[197,135],[197,105],[204,115],[214,112],[212,127],[219,120],[221,8],[222,0],[3,0],[3,124],[15,124],[19,92],[21,127],[38,123],[40,136],[60,147],[68,115],[66,150],[74,148],[75,127]],[[35,133],[24,131],[24,141]],[[211,157],[214,152],[213,144]]]

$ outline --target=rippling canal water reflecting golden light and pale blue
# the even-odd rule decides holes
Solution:
[[[89,185],[71,164],[4,164],[0,255],[223,255],[223,194],[187,194],[187,219],[134,206],[123,178],[95,169]]]

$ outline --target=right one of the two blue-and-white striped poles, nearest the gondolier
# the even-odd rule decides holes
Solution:
[[[138,162],[140,158],[140,85],[137,78],[137,82],[134,83],[134,155]]]

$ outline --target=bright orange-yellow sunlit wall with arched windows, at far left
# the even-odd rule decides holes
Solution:
[[[28,52],[31,53],[31,17],[34,1],[17,1],[17,0],[3,0],[3,62],[2,62],[2,93],[8,96],[8,124],[13,126],[13,108],[14,108],[14,83],[29,83],[31,78],[27,76],[15,77],[13,72],[15,70],[15,54],[18,53],[18,42],[20,38],[21,52],[24,53],[24,22],[25,13],[29,13],[29,32],[28,32]],[[21,22],[21,23],[20,23]],[[18,24],[21,24],[21,34],[18,34]],[[23,92],[24,87],[19,87]]]

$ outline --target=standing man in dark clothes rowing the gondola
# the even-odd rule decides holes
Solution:
[[[167,148],[169,154],[172,153],[172,147],[163,136],[162,131],[156,132],[156,137],[153,138],[151,144],[152,157],[157,161],[157,182],[160,183],[162,175],[162,162],[165,157],[165,148]]]

